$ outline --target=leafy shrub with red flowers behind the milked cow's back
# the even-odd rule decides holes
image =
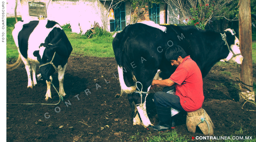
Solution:
[[[204,28],[212,18],[227,17],[234,8],[234,0],[165,0],[180,23]],[[180,15],[175,14],[175,8]],[[185,21],[185,22],[184,22]]]

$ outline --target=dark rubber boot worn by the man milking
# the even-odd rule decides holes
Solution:
[[[170,128],[171,107],[157,106],[157,115],[159,118],[159,123],[155,126],[151,126],[154,130],[164,131]]]

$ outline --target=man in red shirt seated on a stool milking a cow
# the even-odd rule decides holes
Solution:
[[[186,56],[186,52],[178,45],[169,47],[165,56],[177,69],[168,79],[153,80],[151,89],[156,86],[175,85],[176,95],[166,92],[154,94],[159,123],[151,127],[158,131],[175,127],[175,123],[170,125],[171,107],[180,111],[191,112],[200,109],[204,102],[203,78],[195,61],[190,56]]]

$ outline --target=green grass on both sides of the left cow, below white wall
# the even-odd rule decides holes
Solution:
[[[18,18],[20,21],[21,18]],[[7,18],[7,44],[6,58],[17,58],[18,51],[12,37],[12,30],[15,25],[15,18]],[[114,57],[112,48],[113,37],[111,33],[99,31],[101,37],[95,36],[92,39],[87,39],[86,36],[77,33],[70,33],[67,29],[68,25],[64,25],[65,33],[73,47],[71,55],[73,56],[96,56],[96,57]]]

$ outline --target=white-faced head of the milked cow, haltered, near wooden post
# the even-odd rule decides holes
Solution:
[[[221,61],[225,61],[227,63],[234,63],[234,64],[241,64],[243,61],[243,56],[241,56],[241,51],[239,49],[239,39],[235,36],[235,31],[228,28],[221,33],[221,37],[229,46],[230,53],[228,54],[227,58],[222,59]]]

